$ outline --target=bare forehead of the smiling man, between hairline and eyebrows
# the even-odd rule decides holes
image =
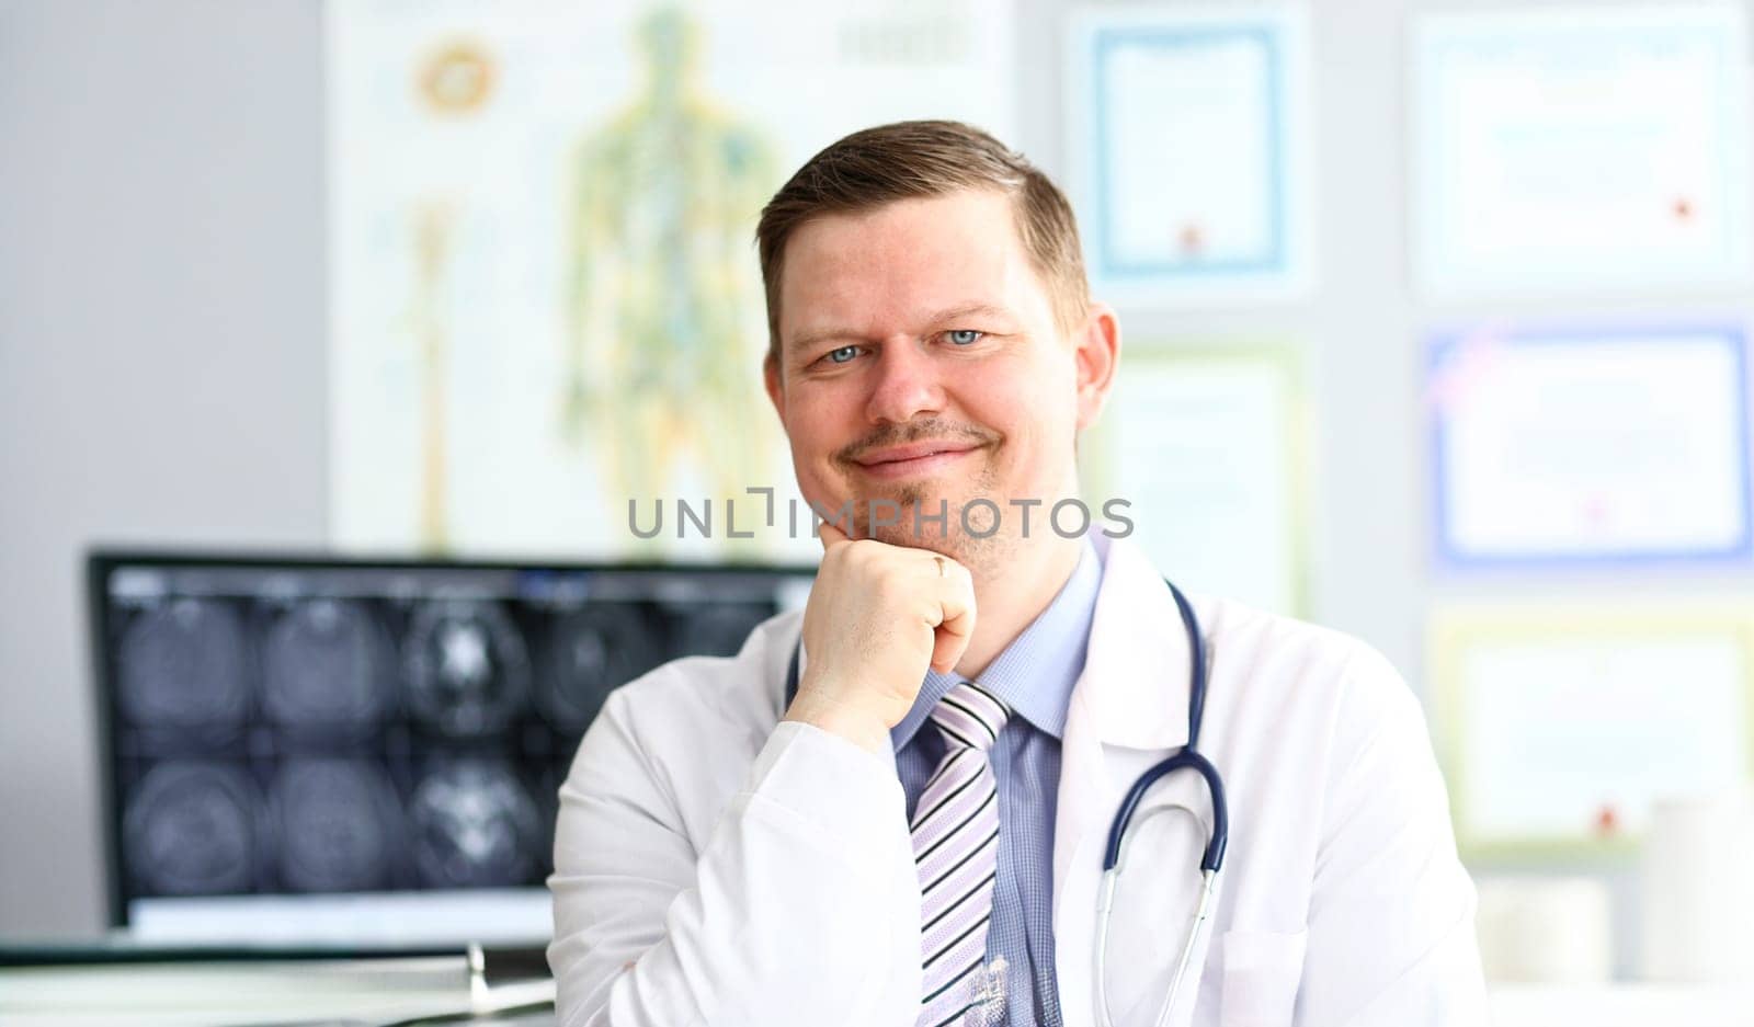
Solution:
[[[1028,317],[1045,303],[1003,193],[970,189],[816,217],[781,265],[781,338],[905,329],[972,303]]]

